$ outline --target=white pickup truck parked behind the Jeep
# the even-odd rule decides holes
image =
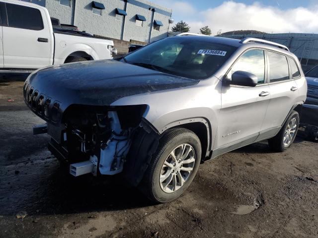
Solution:
[[[19,0],[0,0],[0,71],[111,59],[112,40],[52,27],[48,10]],[[2,68],[2,69],[1,69]]]

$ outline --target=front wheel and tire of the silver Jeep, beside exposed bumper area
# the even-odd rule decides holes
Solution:
[[[184,154],[181,153],[183,149]],[[188,151],[189,153],[186,156]],[[173,152],[176,155],[177,164],[175,163],[176,161],[172,159],[171,153]],[[182,158],[182,155],[179,157],[179,153],[185,158]],[[194,158],[194,162],[188,163],[193,160],[192,157]],[[183,159],[183,161],[179,163],[181,159]],[[159,147],[152,157],[139,188],[154,202],[164,203],[172,201],[178,198],[190,185],[198,171],[200,160],[201,143],[198,136],[188,129],[172,129],[160,139]],[[173,168],[166,165],[163,167],[163,163],[165,162]],[[184,171],[189,170],[189,168],[193,168],[191,172]],[[170,175],[167,179],[162,180],[162,182],[159,181],[160,178],[163,179],[163,177],[166,177],[169,173]],[[185,179],[183,185],[181,184],[180,176]],[[170,178],[172,178],[172,180],[169,183],[168,180],[170,180]],[[165,188],[164,184],[167,185]],[[173,189],[173,184],[178,184],[178,186],[174,186]]]

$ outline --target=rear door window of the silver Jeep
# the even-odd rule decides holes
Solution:
[[[289,68],[287,58],[284,55],[267,52],[269,60],[269,80],[279,82],[289,79]]]

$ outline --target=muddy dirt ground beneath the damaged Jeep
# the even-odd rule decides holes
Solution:
[[[0,237],[317,238],[318,144],[256,143],[202,164],[177,200],[116,179],[72,178],[47,151],[23,82],[0,79]],[[8,99],[15,101],[8,102]]]

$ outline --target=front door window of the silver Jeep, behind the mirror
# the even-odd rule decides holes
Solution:
[[[264,83],[265,58],[263,50],[245,52],[232,67],[232,74],[236,71],[245,71],[257,76],[258,84]]]

